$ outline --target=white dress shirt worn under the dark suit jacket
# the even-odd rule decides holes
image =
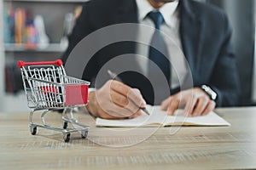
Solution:
[[[179,87],[180,83],[183,82],[183,78],[185,77],[187,71],[185,67],[185,60],[183,56],[178,56],[173,54],[172,49],[173,48],[180,48],[182,50],[182,44],[181,44],[181,38],[179,34],[179,17],[178,17],[178,12],[177,12],[177,5],[178,1],[176,0],[172,3],[166,3],[163,5],[159,11],[164,17],[164,22],[160,26],[160,31],[164,32],[164,39],[166,41],[166,46],[168,48],[168,53],[169,53],[169,58],[171,59],[172,57],[179,57],[179,64],[180,65],[171,65],[172,69],[172,88],[177,88]],[[152,26],[154,27],[154,22],[147,17],[148,13],[151,11],[155,11],[150,3],[148,3],[148,0],[136,0],[137,2],[137,9],[138,9],[138,23],[143,24],[146,26]],[[138,32],[138,41],[143,38],[143,42],[148,42],[148,44],[151,41],[151,37],[153,35],[148,35],[148,37],[142,37],[143,30],[140,28]],[[167,37],[165,36],[167,35]],[[146,38],[146,39],[145,39]],[[172,39],[172,42],[168,40],[169,38]],[[174,47],[175,46],[175,47]],[[148,50],[149,46],[143,45],[142,43],[138,43],[137,45],[137,54],[142,55],[144,57],[148,57]],[[146,59],[148,61],[148,59]],[[172,60],[172,59],[171,59]],[[145,59],[142,58],[137,58],[137,62],[140,65],[142,71],[144,74],[148,74],[148,63],[146,63]],[[178,79],[177,77],[177,68],[179,72],[179,77],[181,80]]]

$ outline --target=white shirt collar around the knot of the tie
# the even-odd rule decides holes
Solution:
[[[166,3],[159,11],[163,15],[167,26],[172,26],[172,16],[174,16],[179,0],[172,3]],[[138,20],[142,21],[147,14],[155,9],[148,3],[148,0],[136,0],[138,8]]]

